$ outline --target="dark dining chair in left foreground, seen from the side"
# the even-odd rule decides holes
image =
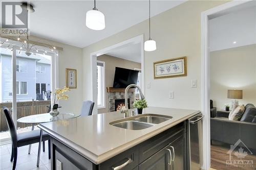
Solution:
[[[12,140],[11,162],[13,161],[12,169],[14,170],[17,163],[17,148],[39,142],[40,130],[33,130],[33,131],[17,134],[9,109],[7,107],[3,107],[3,109],[4,109],[7,125],[11,134],[11,140]],[[46,141],[46,140],[48,140],[49,159],[51,159],[50,136],[47,133],[43,133],[42,141]]]

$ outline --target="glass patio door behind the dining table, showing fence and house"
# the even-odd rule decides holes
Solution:
[[[37,46],[38,52],[27,56],[14,40],[1,38],[0,47],[0,113],[7,107],[17,133],[30,131],[30,124],[18,123],[17,119],[33,114],[46,113],[51,103],[51,91],[57,85],[57,52]],[[14,47],[13,47],[14,48]],[[41,51],[41,52],[40,52]],[[47,54],[44,54],[46,53]],[[0,144],[10,142],[5,115],[1,116]]]

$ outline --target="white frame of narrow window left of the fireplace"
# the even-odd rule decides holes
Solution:
[[[106,108],[106,98],[105,98],[105,93],[106,93],[106,90],[105,90],[105,62],[104,61],[99,61],[99,60],[97,60],[97,63],[101,63],[101,64],[103,64],[103,68],[102,68],[102,83],[101,83],[101,90],[102,90],[102,95],[101,95],[101,97],[102,97],[102,100],[101,100],[101,102],[102,102],[102,105],[98,105],[98,95],[97,95],[97,108],[98,109],[104,109],[104,108]],[[97,65],[98,66],[98,65]],[[98,69],[98,68],[96,68],[96,69]],[[97,77],[97,79],[98,79],[98,77]],[[96,86],[96,90],[98,90],[98,85]]]

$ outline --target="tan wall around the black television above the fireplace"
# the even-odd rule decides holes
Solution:
[[[122,68],[128,68],[128,69],[141,68],[140,63],[124,60],[124,59],[109,56],[109,55],[101,55],[97,57],[97,60],[105,62],[105,86],[106,87],[113,87],[116,67],[122,67]],[[98,113],[109,112],[109,96],[108,96],[108,92],[106,91],[105,91],[105,102],[106,102],[106,107],[104,109],[98,109]]]

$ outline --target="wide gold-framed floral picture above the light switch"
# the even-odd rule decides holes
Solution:
[[[187,76],[187,57],[154,62],[154,79]]]

